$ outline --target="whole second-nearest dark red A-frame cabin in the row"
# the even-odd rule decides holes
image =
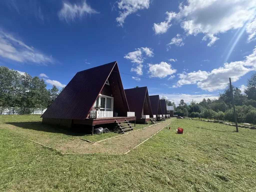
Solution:
[[[147,87],[125,89],[126,99],[131,111],[135,111],[136,121],[147,122],[153,118]]]

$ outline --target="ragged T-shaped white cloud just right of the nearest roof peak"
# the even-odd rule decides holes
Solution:
[[[126,54],[124,56],[124,58],[131,60],[132,63],[135,63],[137,65],[136,68],[131,68],[131,71],[136,72],[138,75],[142,75],[143,74],[142,63],[148,57],[154,56],[153,49],[148,48],[148,47],[141,47],[141,48],[137,48],[135,50],[136,51]]]

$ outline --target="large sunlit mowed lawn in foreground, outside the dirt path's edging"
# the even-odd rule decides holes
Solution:
[[[60,155],[3,127],[0,191],[256,189],[256,130],[176,119],[127,155]]]

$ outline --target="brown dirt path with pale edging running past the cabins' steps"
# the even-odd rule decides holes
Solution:
[[[105,140],[100,143],[94,143],[94,144],[83,144],[82,142],[78,143],[72,143],[73,145],[73,153],[76,154],[87,154],[87,153],[108,153],[108,154],[121,154],[126,153],[127,151],[131,150],[141,142],[145,141],[147,138],[154,135],[157,131],[161,130],[166,125],[170,124],[172,121],[174,121],[175,118],[166,120],[165,122],[159,123],[157,125],[153,125],[151,127],[147,127],[142,130],[134,131],[129,134],[122,135],[120,137],[111,138],[109,140]],[[81,145],[82,144],[82,145]],[[76,147],[74,147],[76,145]],[[67,148],[69,148],[70,152],[70,146],[59,146],[60,149],[66,153]]]

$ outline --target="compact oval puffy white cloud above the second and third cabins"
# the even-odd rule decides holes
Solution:
[[[166,62],[161,62],[159,64],[148,64],[148,72],[150,77],[164,78],[168,75],[176,73],[176,69],[172,68],[172,65]]]

